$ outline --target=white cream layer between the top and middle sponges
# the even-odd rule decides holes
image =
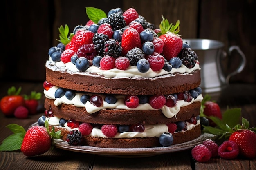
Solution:
[[[59,88],[58,86],[53,86],[49,88],[49,90],[44,90],[45,97],[55,100],[54,101],[55,106],[59,106],[60,104],[63,103],[67,105],[74,105],[76,107],[85,107],[86,111],[90,114],[95,113],[102,109],[156,110],[152,108],[149,103],[139,104],[139,106],[136,108],[128,108],[124,102],[124,99],[126,97],[125,95],[115,95],[115,97],[117,98],[117,102],[115,104],[109,104],[105,102],[104,99],[106,95],[99,94],[99,93],[75,93],[76,95],[72,100],[67,99],[65,95],[62,96],[61,98],[55,98],[54,94],[58,88]],[[100,107],[94,106],[93,104],[90,103],[90,101],[87,101],[85,104],[83,104],[80,101],[80,99],[81,99],[81,96],[85,94],[89,96],[92,96],[92,95],[101,96],[103,99],[103,104],[101,104]],[[162,110],[162,113],[164,114],[165,117],[172,118],[177,115],[181,107],[188,106],[193,102],[202,102],[202,99],[203,97],[201,94],[201,95],[198,95],[196,99],[192,98],[191,102],[185,102],[184,100],[177,100],[176,105],[174,107],[168,107],[164,105],[160,109]]]

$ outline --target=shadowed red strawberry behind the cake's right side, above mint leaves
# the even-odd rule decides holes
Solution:
[[[220,106],[216,102],[206,101],[204,103],[204,106],[205,106],[204,115],[215,116],[215,117],[222,119]],[[211,119],[209,119],[209,121],[210,121],[210,126],[216,126],[216,124],[214,124]]]

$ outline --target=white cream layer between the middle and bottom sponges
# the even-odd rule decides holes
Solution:
[[[49,125],[51,126],[60,126],[59,124],[60,118],[56,116],[46,118],[46,120],[49,120],[48,122],[49,122]],[[195,126],[200,125],[200,120],[197,121],[197,124],[191,124],[187,121],[186,121],[186,124],[187,124],[187,130],[191,130],[195,128]],[[118,132],[117,135],[115,135],[115,137],[113,138],[160,137],[160,135],[162,135],[164,132],[168,132],[168,127],[166,126],[166,124],[157,124],[157,125],[144,124],[144,126],[145,126],[144,132],[123,132],[123,133]],[[79,131],[79,128],[71,129],[70,127],[67,126],[67,123],[65,123],[64,128],[70,131],[75,129]],[[187,130],[182,130],[180,132],[186,132]],[[98,128],[93,128],[89,136],[107,138],[101,132],[101,129],[98,129]]]

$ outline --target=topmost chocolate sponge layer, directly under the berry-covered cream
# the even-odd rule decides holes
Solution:
[[[200,85],[200,70],[173,73],[154,78],[106,78],[95,73],[86,75],[53,71],[46,67],[47,82],[75,91],[121,95],[167,95],[196,88]]]

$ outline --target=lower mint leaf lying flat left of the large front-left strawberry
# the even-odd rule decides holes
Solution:
[[[21,148],[22,141],[23,137],[21,137],[20,134],[12,134],[2,141],[2,144],[0,145],[0,151],[19,150]]]

